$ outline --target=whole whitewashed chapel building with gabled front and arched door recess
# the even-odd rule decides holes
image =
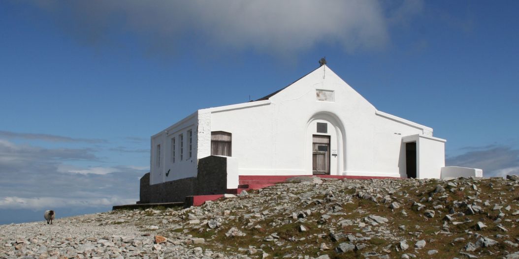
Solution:
[[[150,184],[196,177],[216,132],[230,140],[228,188],[238,175],[440,178],[445,166],[446,140],[432,128],[378,111],[322,65],[255,102],[201,109],[152,136]]]

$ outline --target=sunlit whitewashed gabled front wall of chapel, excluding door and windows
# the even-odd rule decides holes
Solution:
[[[317,100],[316,90],[334,91],[335,102]],[[268,101],[203,110],[211,114],[212,131],[233,134],[233,157],[239,160],[240,175],[312,174],[311,136],[317,134],[316,122],[329,123],[329,134],[319,134],[330,135],[331,149],[338,153],[331,157],[332,175],[406,177],[402,136],[432,135],[432,128],[377,111],[326,66]],[[210,139],[204,145],[210,145]],[[443,143],[424,145],[434,150],[429,153],[437,153],[420,159],[433,165],[431,170],[438,171],[439,178]]]

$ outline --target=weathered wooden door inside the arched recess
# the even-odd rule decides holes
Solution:
[[[330,175],[330,136],[312,136],[312,172]]]

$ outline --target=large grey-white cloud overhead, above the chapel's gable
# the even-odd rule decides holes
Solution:
[[[408,22],[424,8],[422,1],[410,0],[35,3],[84,44],[119,46],[125,42],[117,36],[131,35],[147,52],[161,54],[192,45],[277,55],[318,44],[342,46],[348,53],[380,50],[390,42],[391,26]]]

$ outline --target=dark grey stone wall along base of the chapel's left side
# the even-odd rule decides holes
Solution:
[[[149,184],[149,172],[141,178],[140,200],[144,203],[184,202],[186,196],[223,194],[227,191],[227,158],[207,156],[198,160],[197,177]]]

